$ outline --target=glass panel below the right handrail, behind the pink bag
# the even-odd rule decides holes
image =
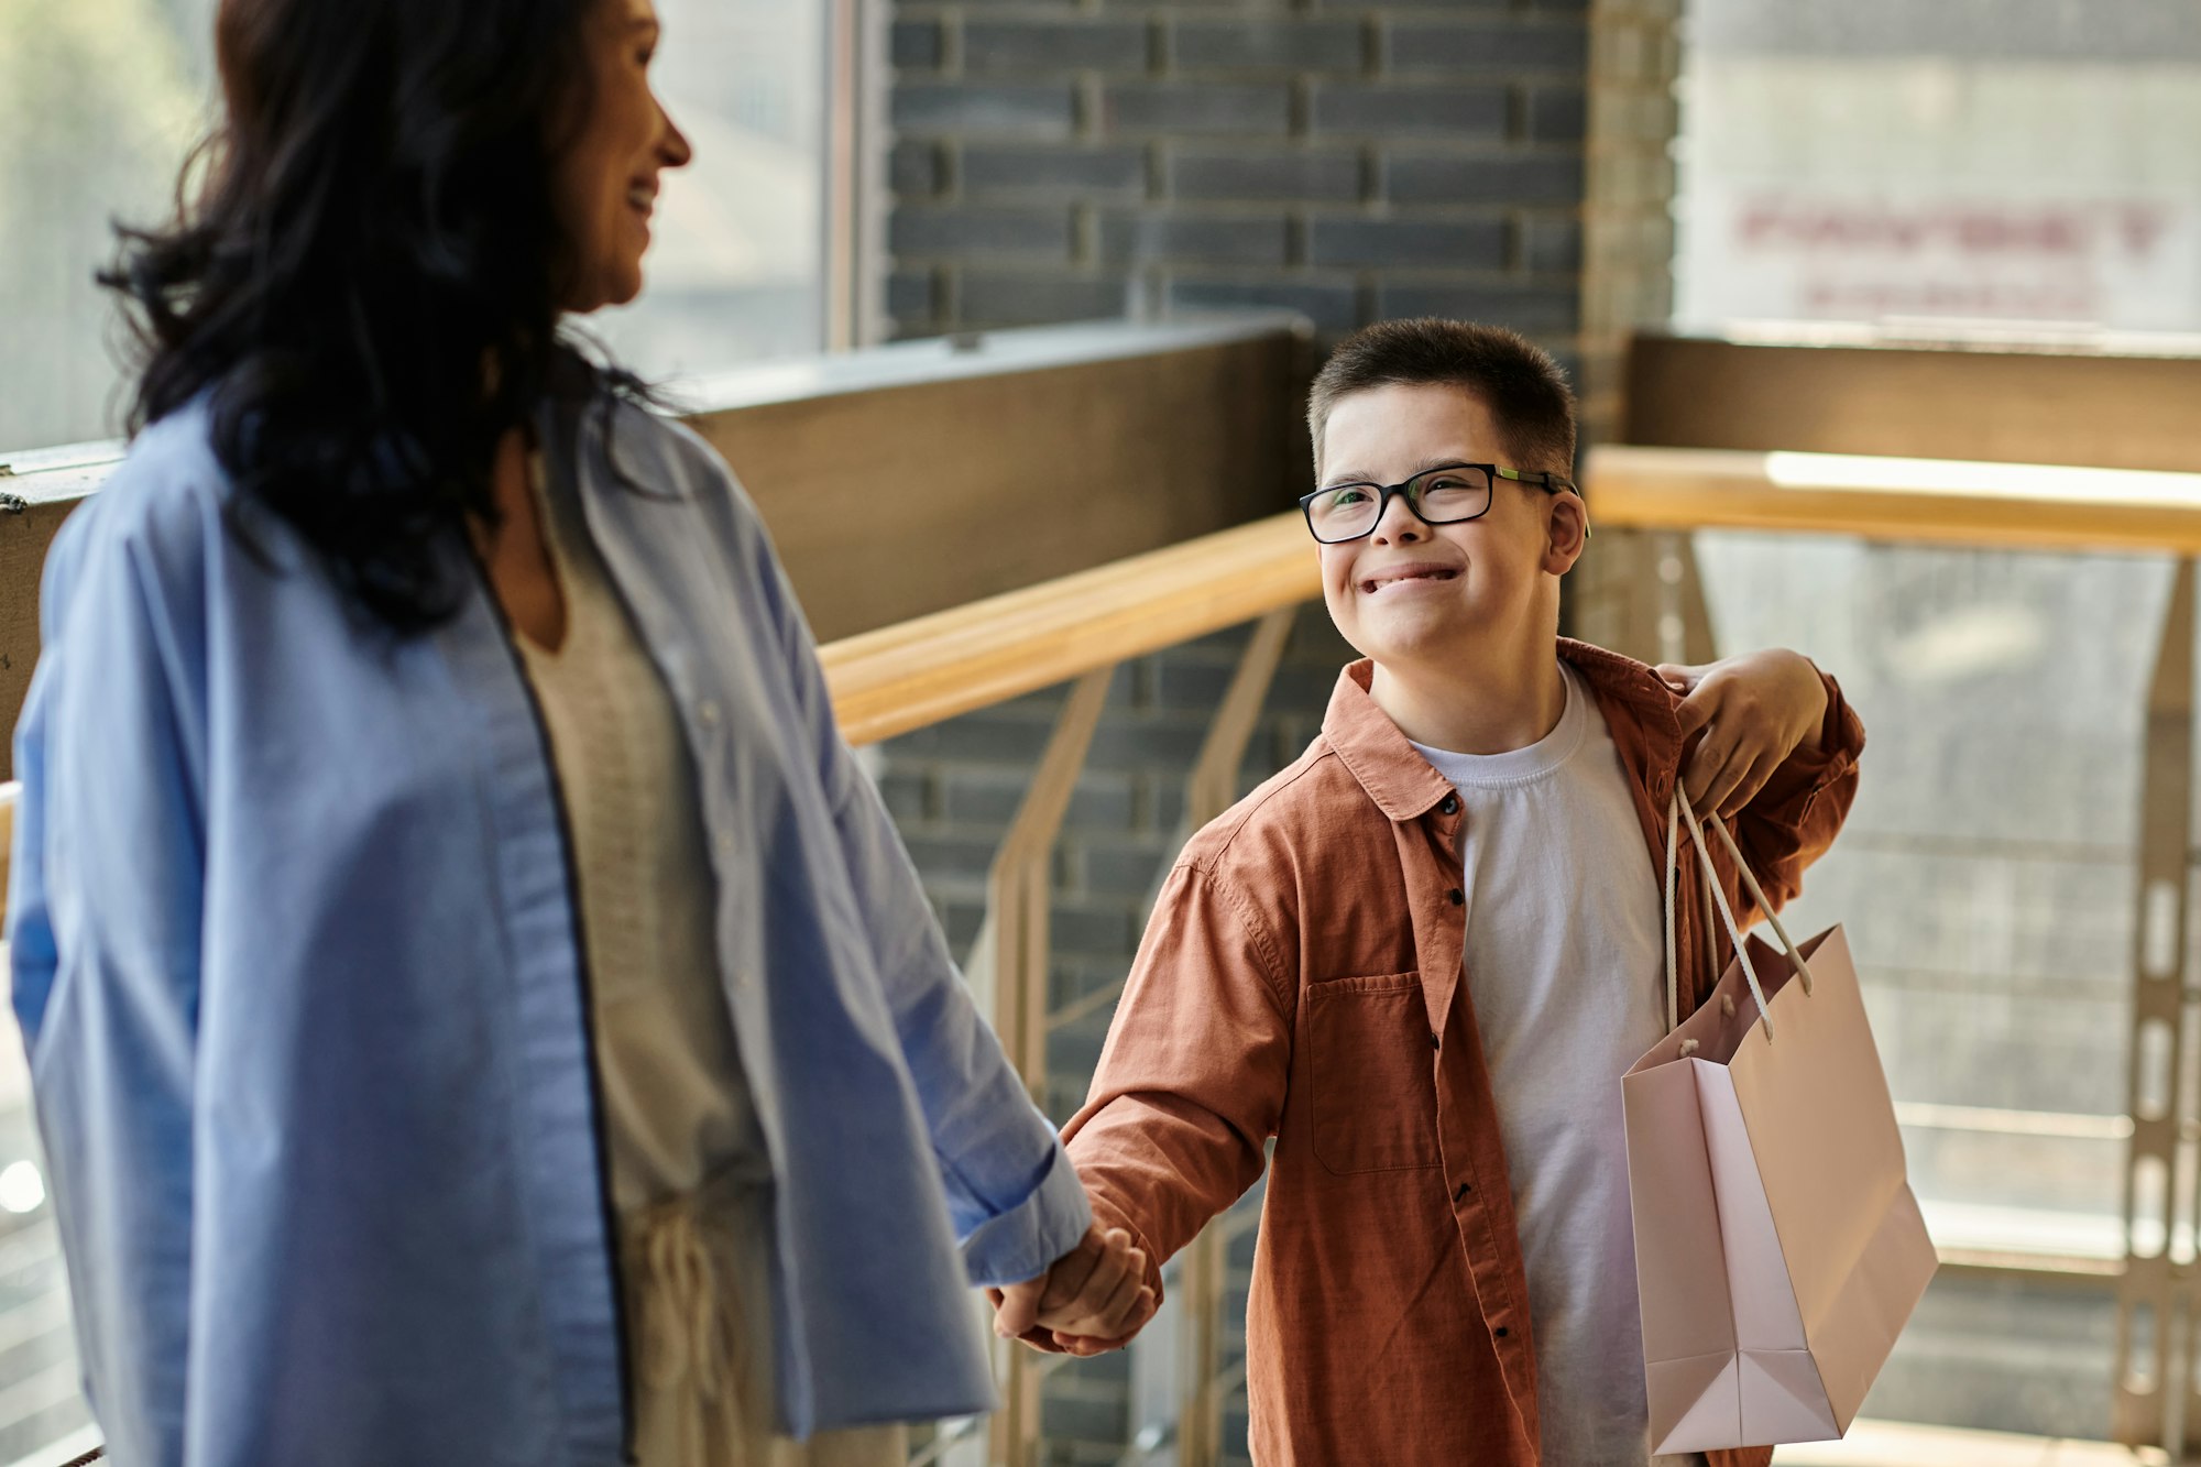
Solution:
[[[2170,562],[1695,546],[1719,648],[1807,652],[1866,722],[1858,802],[1787,925],[1847,925],[1937,1242],[2124,1258],[2142,714]],[[2142,1073],[2164,1104],[2170,1037]],[[2135,1245],[2183,1256],[2170,1183],[2146,1178]],[[2102,1436],[2113,1322],[2106,1293],[1943,1278],[1866,1414]]]

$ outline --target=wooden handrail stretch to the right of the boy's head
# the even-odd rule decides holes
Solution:
[[[1600,526],[2201,555],[2201,474],[1607,445],[1583,482]]]

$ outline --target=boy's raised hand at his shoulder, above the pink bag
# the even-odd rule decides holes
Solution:
[[[1657,674],[1682,694],[1682,738],[1706,729],[1682,771],[1699,819],[1728,819],[1750,804],[1827,718],[1827,685],[1800,652],[1772,648],[1701,667],[1662,663]]]

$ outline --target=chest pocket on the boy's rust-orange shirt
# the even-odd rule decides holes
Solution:
[[[1437,1073],[1422,976],[1310,982],[1301,1024],[1314,1159],[1334,1174],[1437,1165]]]

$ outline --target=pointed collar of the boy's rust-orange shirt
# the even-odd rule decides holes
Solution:
[[[1649,784],[1660,771],[1671,773],[1679,764],[1679,698],[1651,667],[1569,637],[1558,639],[1558,656],[1583,674],[1607,725],[1613,725],[1613,742],[1629,775]],[[1369,694],[1373,674],[1376,663],[1369,659],[1349,663],[1338,674],[1323,714],[1323,738],[1384,817],[1420,819],[1453,793],[1453,784],[1415,753],[1391,716],[1376,705]]]

